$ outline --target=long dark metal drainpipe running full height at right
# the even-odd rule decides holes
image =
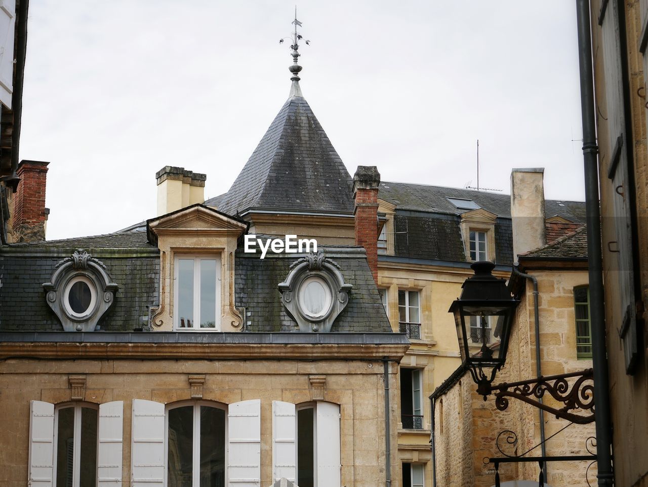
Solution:
[[[581,74],[581,113],[583,115],[583,163],[585,168],[585,209],[587,222],[588,277],[590,282],[590,321],[592,323],[592,365],[596,398],[596,456],[599,486],[612,486],[612,421],[610,384],[605,350],[605,307],[603,300],[603,254],[601,251],[601,208],[599,206],[598,146],[594,119],[594,80],[592,78],[592,32],[589,0],[576,0],[578,54]]]

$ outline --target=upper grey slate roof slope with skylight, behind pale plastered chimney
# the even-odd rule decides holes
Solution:
[[[502,193],[384,181],[380,183],[378,198],[396,205],[397,209],[456,215],[467,210],[457,209],[447,198],[470,199],[497,216],[511,218],[511,196]],[[583,201],[547,199],[544,206],[546,216],[559,214],[575,223],[585,223]]]

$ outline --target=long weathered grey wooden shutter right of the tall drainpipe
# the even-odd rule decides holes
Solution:
[[[621,37],[619,3],[608,2],[605,16],[601,19],[603,36],[603,64],[605,65],[605,98],[607,102],[608,146],[612,153],[606,154],[609,191],[612,198],[612,218],[616,235],[606,236],[603,248],[616,266],[608,266],[610,284],[618,285],[620,308],[610,316],[613,329],[618,330],[623,341],[625,367],[628,374],[634,372],[637,349],[637,323],[634,299],[634,262],[632,256],[631,179],[629,177],[629,152],[623,95],[623,70],[621,66]],[[615,257],[616,255],[616,257]],[[616,274],[616,279],[614,274]],[[614,282],[616,280],[616,282]]]

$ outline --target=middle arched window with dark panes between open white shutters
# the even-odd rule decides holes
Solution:
[[[224,487],[226,410],[214,402],[167,406],[167,487]]]

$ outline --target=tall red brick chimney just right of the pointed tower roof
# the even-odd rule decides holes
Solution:
[[[356,245],[367,252],[367,262],[378,282],[378,185],[380,173],[376,166],[358,166],[353,175]]]

